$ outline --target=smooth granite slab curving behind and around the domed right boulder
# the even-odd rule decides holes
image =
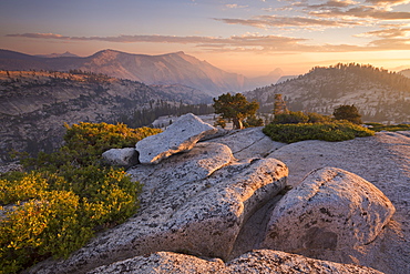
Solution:
[[[288,184],[298,185],[316,169],[335,166],[355,173],[391,201],[396,213],[371,243],[350,253],[322,251],[315,258],[367,265],[385,273],[410,270],[410,138],[409,132],[378,132],[344,142],[303,141],[285,145],[269,156],[289,168]]]

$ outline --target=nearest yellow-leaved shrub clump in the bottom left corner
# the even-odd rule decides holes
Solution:
[[[0,268],[16,273],[79,248],[92,235],[79,214],[79,197],[72,192],[39,192],[35,199],[18,203],[0,222]]]

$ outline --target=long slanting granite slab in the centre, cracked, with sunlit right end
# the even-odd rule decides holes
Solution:
[[[144,183],[140,213],[66,261],[39,264],[31,273],[84,273],[157,251],[227,258],[244,223],[285,187],[288,175],[275,159],[232,161],[226,145],[198,143],[158,165],[129,170]]]

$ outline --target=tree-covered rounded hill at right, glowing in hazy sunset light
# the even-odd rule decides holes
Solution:
[[[262,112],[271,112],[275,94],[293,111],[331,114],[341,104],[355,104],[363,121],[410,121],[410,79],[372,65],[356,63],[322,68],[283,83],[248,91]]]

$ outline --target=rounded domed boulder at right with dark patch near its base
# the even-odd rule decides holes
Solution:
[[[279,201],[262,246],[304,255],[358,248],[371,243],[393,213],[389,199],[371,183],[322,168]]]

